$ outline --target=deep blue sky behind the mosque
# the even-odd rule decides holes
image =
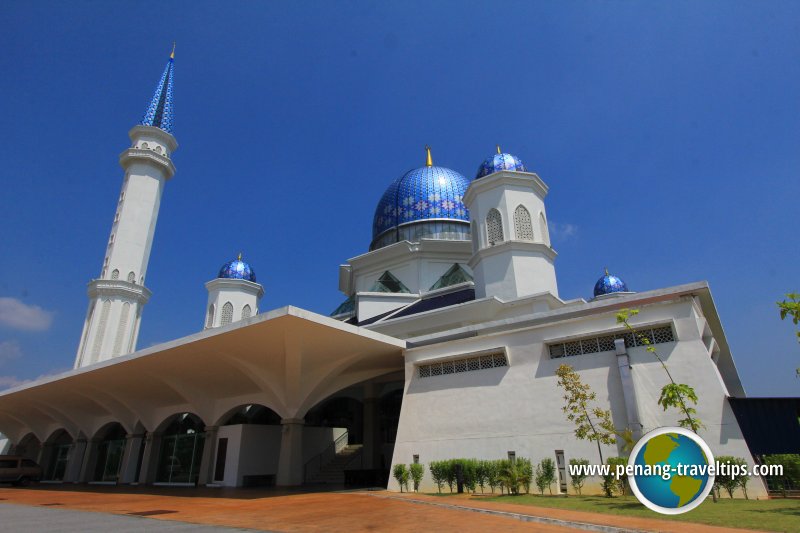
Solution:
[[[799,25],[778,1],[6,0],[0,297],[35,324],[0,324],[0,387],[71,368],[117,157],[175,40],[139,347],[198,331],[240,250],[263,309],[329,313],[425,144],[472,176],[500,143],[550,185],[562,297],[606,265],[633,290],[708,280],[748,393],[797,395],[775,301],[800,290]]]

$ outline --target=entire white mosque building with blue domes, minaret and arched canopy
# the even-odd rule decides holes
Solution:
[[[713,452],[753,461],[708,285],[634,292],[606,272],[592,299],[562,299],[548,185],[499,147],[473,179],[434,165],[428,150],[424,166],[388,185],[369,250],[339,266],[345,300],[330,317],[264,312],[240,255],[206,284],[197,333],[137,351],[161,195],[176,172],[173,69],[174,56],[120,156],[74,370],[0,393],[6,448],[39,461],[46,481],[375,484],[396,463],[514,454],[557,461],[563,490],[563,466],[597,449],[562,413],[560,364],[619,428],[641,435],[680,418],[657,405],[664,371],[617,324],[622,308],[640,310],[633,325],[697,391]],[[764,491],[751,480],[751,496]]]

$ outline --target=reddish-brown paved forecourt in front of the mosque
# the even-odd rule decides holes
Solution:
[[[14,505],[2,505],[14,504]],[[126,515],[147,524],[182,522],[261,531],[543,531],[594,530],[722,533],[719,527],[597,513],[566,511],[469,497],[437,498],[377,492],[317,492],[258,489],[166,489],[157,487],[46,486],[0,488],[0,524],[19,515],[18,505]],[[79,513],[90,514],[90,513]],[[45,517],[43,513],[41,515]],[[102,520],[112,520],[106,515]],[[134,518],[136,517],[136,518]],[[97,518],[97,517],[96,517]],[[24,516],[21,519],[24,523]],[[138,523],[136,524],[138,525]],[[84,524],[82,530],[91,529]],[[65,523],[66,527],[66,523]],[[195,527],[195,526],[190,526]],[[0,529],[4,529],[0,527]],[[35,524],[14,530],[53,530]],[[106,529],[98,524],[97,529]],[[113,529],[124,530],[117,526]],[[80,529],[78,529],[80,530]],[[224,529],[223,529],[224,530]],[[60,529],[58,531],[77,531]],[[738,530],[741,531],[741,530]]]

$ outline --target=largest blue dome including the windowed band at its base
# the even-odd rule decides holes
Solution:
[[[469,211],[464,205],[469,183],[449,168],[409,170],[389,185],[378,202],[370,249],[420,237],[469,239]]]

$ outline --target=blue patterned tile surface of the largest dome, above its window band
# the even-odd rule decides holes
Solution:
[[[444,167],[409,170],[383,194],[372,224],[373,242],[387,230],[408,222],[445,219],[469,223],[464,193],[470,180]]]

